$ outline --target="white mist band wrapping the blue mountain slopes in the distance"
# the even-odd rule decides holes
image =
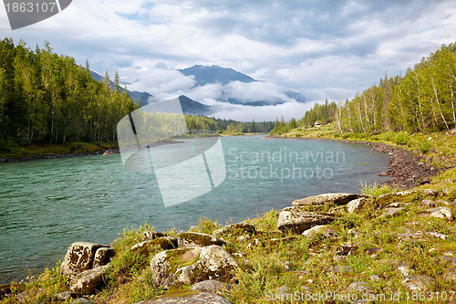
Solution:
[[[95,79],[104,77],[93,72]],[[300,92],[254,79],[233,68],[195,65],[173,69],[160,65],[127,75],[130,97],[142,105],[179,98],[185,114],[238,121],[299,118],[310,109]],[[111,81],[111,86],[114,84]]]

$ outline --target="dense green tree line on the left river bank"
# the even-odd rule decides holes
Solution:
[[[92,78],[88,62],[57,55],[48,43],[35,50],[22,40],[0,41],[0,141],[65,143],[113,141],[119,120],[138,108],[109,75]]]

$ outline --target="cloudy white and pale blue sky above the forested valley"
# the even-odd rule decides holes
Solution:
[[[56,16],[0,36],[35,48],[49,41],[101,75],[116,70],[132,90],[157,99],[185,93],[222,105],[220,117],[248,121],[304,115],[315,102],[353,98],[379,79],[404,74],[442,44],[456,42],[454,1],[74,0]],[[264,85],[236,94],[293,89],[308,103],[254,109],[217,100],[217,86],[193,88],[177,68],[234,68]],[[232,87],[233,87],[232,86]],[[233,89],[233,88],[232,88]],[[256,90],[255,90],[256,89]]]

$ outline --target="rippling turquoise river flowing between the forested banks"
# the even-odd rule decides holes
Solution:
[[[125,227],[186,230],[279,210],[328,192],[384,182],[388,155],[363,144],[221,139],[226,178],[207,194],[165,207],[154,173],[126,171],[119,154],[0,164],[0,284],[55,266],[67,246],[109,244]]]

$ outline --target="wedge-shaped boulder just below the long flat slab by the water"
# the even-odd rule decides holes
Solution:
[[[277,229],[302,234],[305,230],[315,225],[326,225],[336,220],[336,218],[335,215],[325,212],[309,212],[302,211],[301,207],[286,207],[279,213]]]

